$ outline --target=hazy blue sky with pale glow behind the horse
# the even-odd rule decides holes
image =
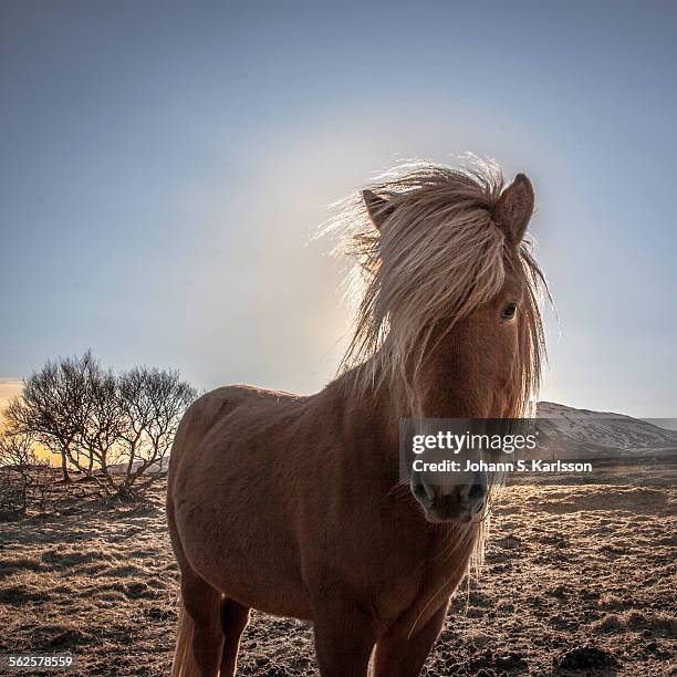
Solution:
[[[91,346],[313,392],[326,205],[471,150],[537,189],[543,397],[677,416],[676,7],[3,1],[0,377]]]

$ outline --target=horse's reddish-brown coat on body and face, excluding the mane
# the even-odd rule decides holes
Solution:
[[[502,218],[523,221],[523,180],[513,186]],[[523,397],[532,335],[500,317],[532,291],[508,235],[521,239],[525,223],[500,227],[500,292],[431,327],[412,367],[425,416],[513,416]],[[367,366],[309,397],[235,386],[190,407],[167,497],[185,606],[175,675],[232,675],[250,607],[312,621],[324,677],[363,677],[372,654],[379,677],[419,673],[480,525],[430,523],[398,483],[398,420],[410,412],[387,381],[364,387]]]

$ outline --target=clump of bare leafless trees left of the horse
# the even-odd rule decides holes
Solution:
[[[197,393],[176,371],[105,371],[87,351],[48,362],[24,379],[8,408],[17,435],[31,436],[108,496],[131,494],[148,469],[165,470],[178,424]],[[121,462],[122,461],[122,462]]]

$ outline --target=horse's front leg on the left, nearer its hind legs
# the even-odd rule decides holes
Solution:
[[[365,677],[376,643],[373,619],[348,600],[323,600],[314,617],[322,677]]]

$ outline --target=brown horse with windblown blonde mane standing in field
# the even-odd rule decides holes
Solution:
[[[311,621],[324,677],[418,675],[481,544],[487,485],[402,490],[398,421],[529,406],[543,351],[531,184],[410,164],[358,196],[333,225],[360,301],[342,374],[308,397],[219,388],[177,433],[174,675],[233,675],[252,607]]]

